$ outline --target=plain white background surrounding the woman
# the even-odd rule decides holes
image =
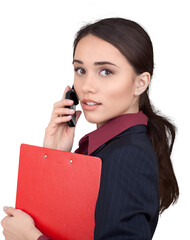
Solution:
[[[189,237],[189,16],[185,0],[0,1],[0,219],[3,206],[15,204],[20,144],[42,146],[53,104],[72,85],[76,31],[96,19],[124,17],[153,41],[150,97],[178,127],[172,157],[180,198],[161,216],[153,239]],[[73,150],[94,129],[81,117]]]

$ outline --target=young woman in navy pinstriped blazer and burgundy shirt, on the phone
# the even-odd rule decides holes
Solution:
[[[73,65],[85,118],[97,124],[76,152],[102,159],[94,239],[152,239],[159,213],[177,200],[179,189],[170,159],[175,127],[157,114],[148,96],[151,40],[133,21],[103,19],[77,33]],[[69,89],[54,105],[44,147],[71,151],[75,128],[67,125],[74,113],[65,108],[73,104],[65,99]],[[80,114],[76,111],[77,120]],[[26,213],[4,210],[6,240],[49,239]]]

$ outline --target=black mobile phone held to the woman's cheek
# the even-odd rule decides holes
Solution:
[[[74,104],[72,106],[66,106],[66,108],[74,109],[76,110],[76,105],[79,103],[78,96],[75,92],[74,85],[72,88],[66,92],[65,99],[71,99],[74,101]],[[75,127],[76,125],[76,113],[72,115],[72,119],[67,122],[69,127]]]

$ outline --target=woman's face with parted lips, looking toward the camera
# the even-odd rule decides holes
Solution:
[[[77,44],[74,86],[85,118],[98,127],[126,113],[136,113],[136,74],[110,43],[87,35]]]

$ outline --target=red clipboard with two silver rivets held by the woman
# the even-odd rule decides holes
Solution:
[[[54,240],[92,240],[102,162],[98,157],[21,144],[16,208]]]

